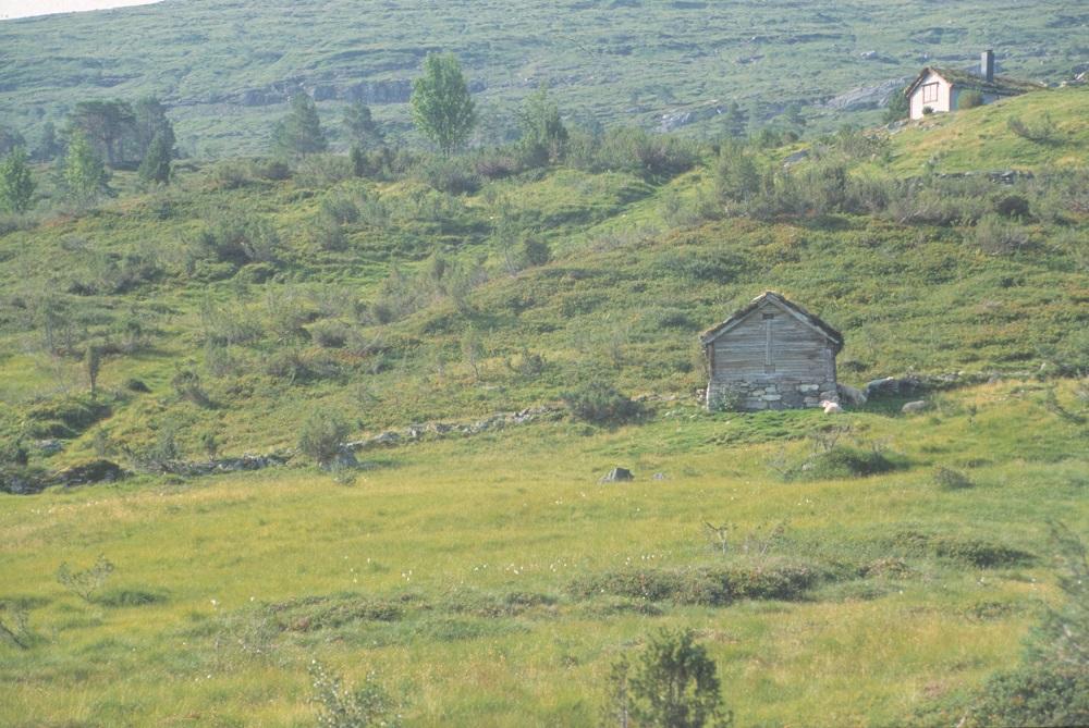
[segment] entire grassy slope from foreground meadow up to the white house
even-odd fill
[[[1037,151],[1002,120],[1043,99]],[[1089,526],[1087,107],[839,134],[790,170],[798,145],[621,134],[492,176],[510,150],[192,163],[88,210],[37,170],[49,199],[0,226],[0,477],[136,474],[0,493],[0,723],[313,725],[319,659],[375,670],[405,725],[584,726],[617,656],[688,626],[741,725],[956,725],[1066,599],[1047,522]],[[696,336],[767,288],[844,333],[844,382],[943,382],[930,408],[707,414]],[[155,467],[596,381],[644,416],[428,434],[337,480]],[[88,599],[58,579],[99,556]]]

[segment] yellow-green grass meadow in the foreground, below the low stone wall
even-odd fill
[[[844,415],[846,439],[905,462],[870,478],[776,476],[812,447],[783,433],[821,414],[678,407],[378,451],[350,486],[289,469],[9,497],[5,597],[36,643],[2,653],[0,721],[309,725],[317,658],[376,670],[411,725],[582,726],[611,659],[690,626],[741,725],[904,725],[1016,663],[1055,599],[1044,521],[1084,531],[1089,513],[1085,428],[1052,388],[1075,406],[1029,381]],[[616,464],[636,480],[598,484]],[[937,466],[974,486],[942,490]],[[726,553],[705,521],[730,527]],[[97,602],[53,580],[100,554],[115,571]],[[808,576],[721,602],[633,588],[701,569]]]

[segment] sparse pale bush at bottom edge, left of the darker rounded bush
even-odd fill
[[[401,705],[368,673],[362,686],[352,688],[344,680],[314,661],[310,664],[310,683],[317,705],[318,725],[321,728],[397,728],[401,725]]]

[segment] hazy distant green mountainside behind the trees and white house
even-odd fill
[[[714,109],[737,101],[760,123],[796,103],[829,128],[878,113],[829,99],[881,84],[888,94],[928,62],[970,65],[993,47],[1003,72],[1060,82],[1086,61],[1078,39],[1089,20],[1057,0],[799,8],[570,0],[523,2],[512,15],[485,0],[446,2],[441,13],[421,2],[207,0],[10,21],[0,25],[0,124],[34,141],[79,100],[157,94],[188,153],[261,153],[285,92],[303,87],[330,123],[358,92],[407,134],[405,83],[428,51],[451,50],[478,84],[481,136],[492,140],[541,83],[583,123],[658,126],[694,112],[693,128],[708,133]]]

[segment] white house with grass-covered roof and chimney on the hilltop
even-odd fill
[[[907,95],[911,119],[922,119],[927,113],[956,111],[965,94],[975,92],[983,103],[991,103],[1006,96],[1017,96],[1041,88],[1037,84],[994,75],[994,51],[983,51],[979,73],[927,66],[904,91]],[[930,111],[928,112],[927,109]]]

